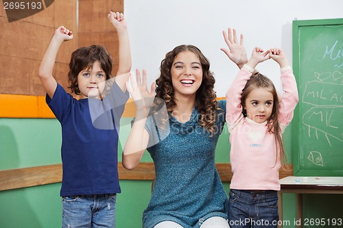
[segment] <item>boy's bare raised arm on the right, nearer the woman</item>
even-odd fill
[[[119,88],[125,92],[126,81],[129,79],[129,73],[132,65],[128,26],[122,13],[111,11],[108,14],[108,18],[115,29],[117,29],[119,40],[119,68],[115,81]]]

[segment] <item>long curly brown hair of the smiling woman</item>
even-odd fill
[[[202,84],[196,91],[196,110],[200,113],[200,126],[207,129],[211,136],[215,133],[215,119],[217,118],[216,110],[218,110],[215,91],[213,90],[215,78],[213,73],[209,71],[210,62],[202,54],[200,49],[193,45],[180,45],[169,51],[165,55],[165,59],[161,62],[161,75],[156,80],[156,97],[165,101],[168,112],[173,112],[173,107],[176,105],[174,97],[174,86],[171,81],[171,66],[176,56],[184,51],[191,51],[200,60],[202,66]]]

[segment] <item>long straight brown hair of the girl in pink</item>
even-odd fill
[[[255,73],[250,77],[247,81],[246,86],[242,90],[241,94],[241,105],[242,107],[246,107],[246,99],[250,92],[255,88],[266,88],[269,92],[272,93],[273,96],[273,108],[272,114],[267,120],[268,132],[270,134],[274,134],[275,144],[276,144],[276,162],[278,161],[278,150],[280,150],[280,160],[281,165],[283,168],[287,168],[287,157],[285,155],[285,149],[283,149],[283,140],[282,140],[282,132],[281,132],[281,125],[279,123],[279,96],[276,92],[275,86],[268,77],[261,75],[261,73]],[[243,109],[243,114],[246,116],[246,110]]]

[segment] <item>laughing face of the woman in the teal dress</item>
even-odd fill
[[[176,55],[171,65],[171,81],[176,99],[195,96],[202,83],[202,66],[195,53],[182,51]]]

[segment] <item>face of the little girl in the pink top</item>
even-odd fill
[[[274,105],[273,94],[269,88],[251,90],[244,102],[246,116],[256,123],[263,123],[272,114]]]

